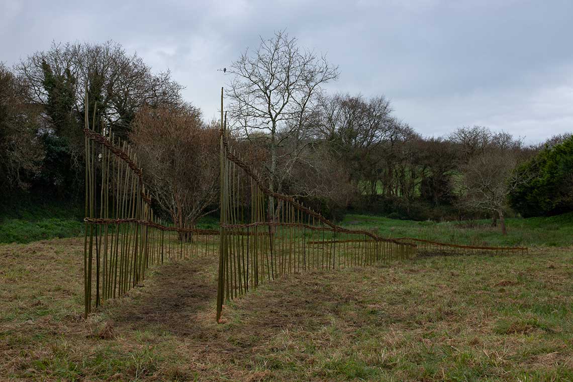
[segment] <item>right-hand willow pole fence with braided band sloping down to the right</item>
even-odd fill
[[[282,275],[374,265],[415,255],[413,243],[337,226],[291,196],[270,191],[231,148],[223,118],[223,89],[220,135],[217,321],[223,301]]]

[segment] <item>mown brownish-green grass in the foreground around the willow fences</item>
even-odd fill
[[[291,275],[216,324],[216,259],[156,267],[84,320],[82,239],[0,245],[0,380],[571,381],[572,255]]]

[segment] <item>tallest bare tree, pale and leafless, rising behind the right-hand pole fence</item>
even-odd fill
[[[280,192],[282,180],[308,144],[305,129],[321,86],[337,79],[338,68],[280,31],[268,40],[261,38],[257,49],[247,50],[226,72],[233,75],[227,91],[230,116],[248,139],[268,149],[268,185]],[[285,145],[289,140],[294,144]],[[270,198],[270,219],[272,206]]]

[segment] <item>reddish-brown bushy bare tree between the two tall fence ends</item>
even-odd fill
[[[216,125],[207,126],[190,105],[144,107],[135,117],[131,139],[144,180],[178,227],[194,226],[215,206],[218,191]]]

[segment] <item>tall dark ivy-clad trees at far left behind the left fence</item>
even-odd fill
[[[179,103],[182,88],[170,73],[152,73],[140,57],[129,56],[111,41],[53,44],[13,70],[2,66],[1,71],[2,80],[11,84],[0,90],[0,107],[6,109],[2,135],[9,136],[3,142],[11,147],[6,152],[12,159],[2,159],[2,166],[9,168],[2,173],[0,186],[20,183],[72,198],[83,190],[85,92],[93,116],[89,123],[125,137],[143,105]],[[15,118],[28,125],[10,127]],[[23,140],[32,142],[34,149]],[[20,152],[15,153],[16,147]],[[22,171],[28,171],[25,180]]]

